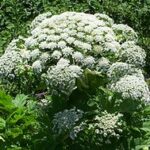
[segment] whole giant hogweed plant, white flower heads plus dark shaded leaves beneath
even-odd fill
[[[147,133],[145,57],[136,32],[105,14],[45,13],[1,56],[1,85],[52,96],[43,149],[132,149]]]

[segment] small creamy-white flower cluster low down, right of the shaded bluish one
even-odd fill
[[[123,122],[122,114],[110,114],[103,112],[102,116],[94,118],[95,123],[89,124],[89,130],[94,130],[95,134],[105,139],[120,138]]]

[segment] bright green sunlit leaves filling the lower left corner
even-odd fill
[[[15,99],[0,91],[0,149],[29,149],[38,129],[35,102],[23,94]]]

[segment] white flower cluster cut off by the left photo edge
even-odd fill
[[[22,63],[20,53],[17,51],[5,52],[0,58],[0,78],[14,76],[16,66]]]

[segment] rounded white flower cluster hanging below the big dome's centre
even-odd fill
[[[82,69],[77,65],[69,65],[69,61],[61,58],[56,66],[47,71],[47,84],[54,89],[53,94],[70,95],[76,88],[76,78],[82,75]]]

